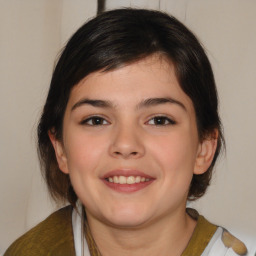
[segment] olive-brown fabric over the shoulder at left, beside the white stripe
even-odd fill
[[[17,239],[4,256],[75,255],[72,207],[64,207]]]

